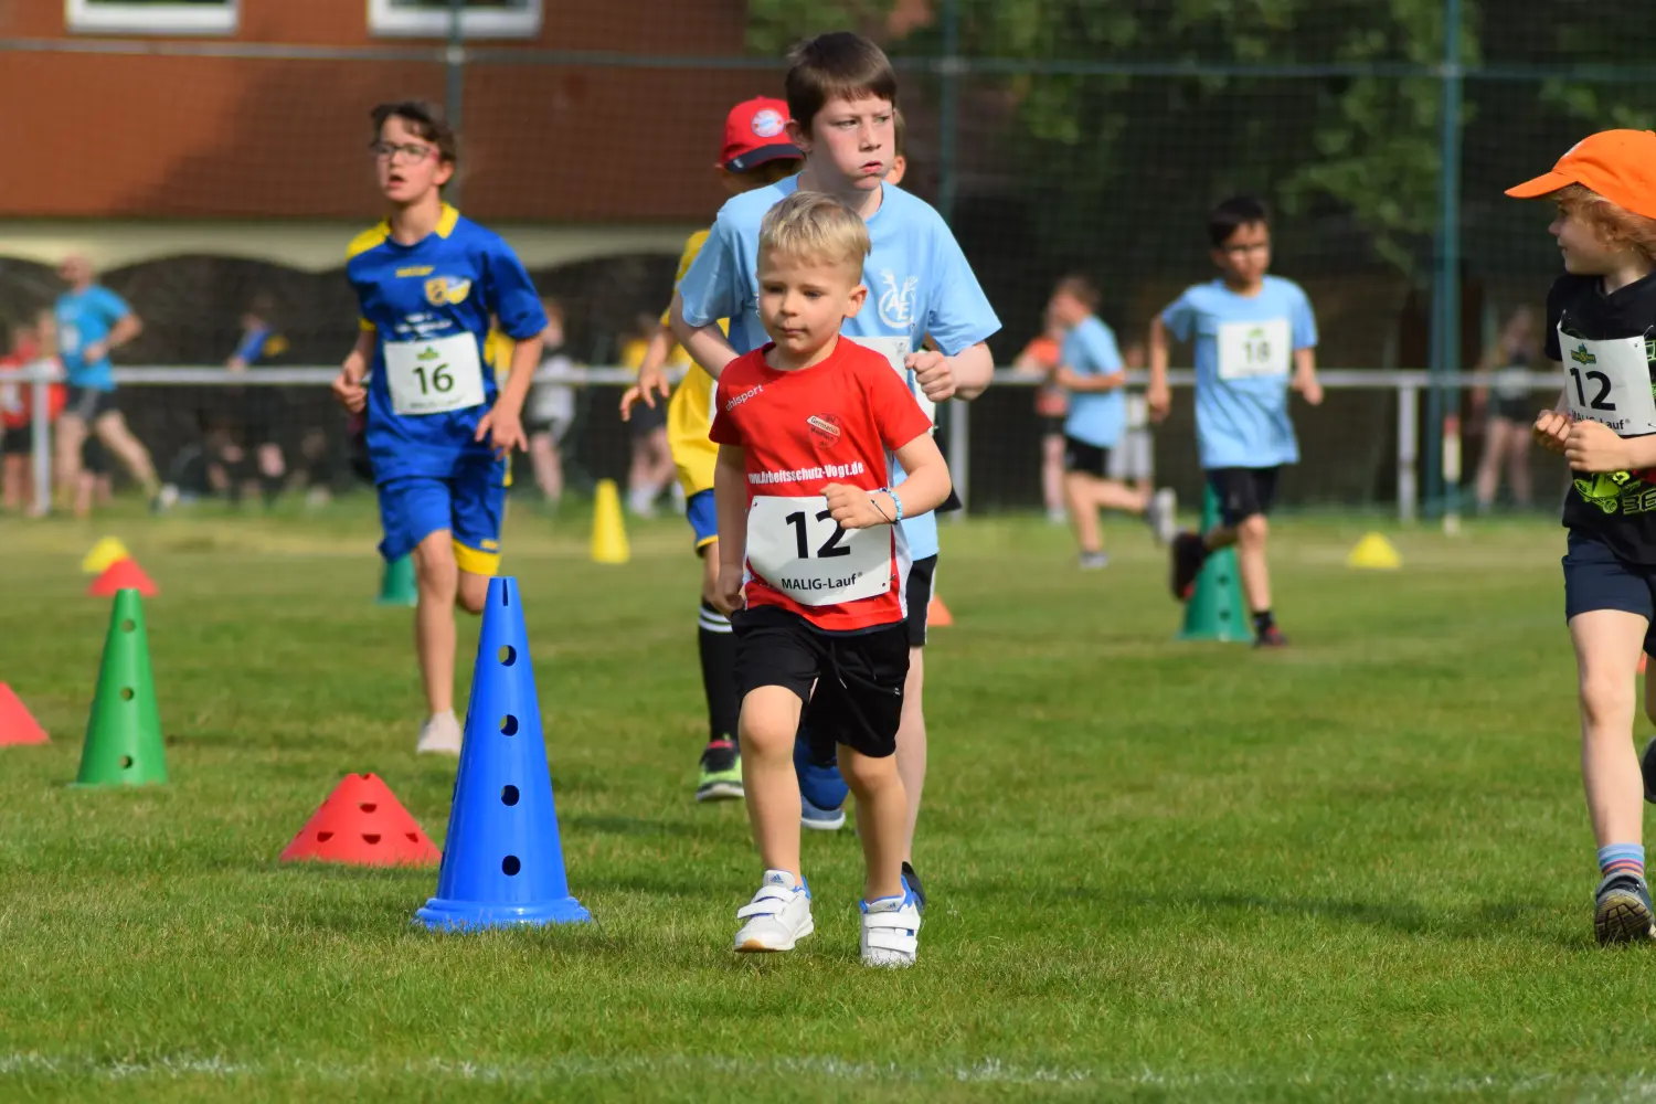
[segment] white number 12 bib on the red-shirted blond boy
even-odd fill
[[[757,495],[747,513],[753,574],[802,606],[833,606],[891,589],[891,526],[841,530],[821,495]]]

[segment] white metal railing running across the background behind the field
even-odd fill
[[[174,384],[174,386],[195,386],[195,387],[278,387],[278,386],[313,386],[326,387],[338,376],[338,367],[311,366],[311,367],[258,367],[245,372],[232,372],[224,367],[207,367],[207,366],[132,366],[118,367],[114,371],[114,379],[121,386],[142,387],[156,384]],[[35,415],[35,450],[33,450],[33,477],[35,477],[35,508],[45,510],[51,502],[51,422],[48,410],[48,386],[56,382],[60,376],[48,369],[22,369],[20,376],[12,376],[13,379],[26,381],[33,386],[33,415]],[[1421,427],[1419,427],[1419,396],[1432,384],[1432,376],[1424,371],[1394,371],[1394,369],[1323,369],[1318,371],[1317,377],[1321,381],[1326,391],[1396,391],[1398,392],[1398,518],[1403,521],[1413,521],[1419,510],[1419,450],[1421,450]],[[633,369],[626,367],[543,367],[537,376],[537,382],[561,382],[576,387],[586,386],[619,386],[629,384],[634,379]],[[1167,382],[1174,387],[1189,387],[1196,381],[1196,374],[1189,369],[1174,369],[1167,372]],[[1459,372],[1456,376],[1446,377],[1444,382],[1451,382],[1457,387],[1477,387],[1489,386],[1492,374],[1489,372]],[[1042,381],[1038,376],[1027,376],[1023,372],[1015,372],[1010,369],[1000,369],[995,372],[995,387],[1035,387]],[[1143,372],[1131,372],[1128,376],[1129,386],[1143,387],[1146,377]],[[1502,382],[1517,382],[1517,376],[1502,377]],[[1555,372],[1527,372],[1524,374],[1524,386],[1537,392],[1558,391],[1563,386],[1563,377]],[[962,502],[969,502],[970,488],[970,440],[972,440],[972,404],[956,402],[952,404],[951,422],[949,422],[949,470],[954,477],[956,490]],[[1459,482],[1459,444],[1451,442],[1446,450],[1446,477],[1451,482]],[[964,518],[965,510],[949,515],[951,518]]]

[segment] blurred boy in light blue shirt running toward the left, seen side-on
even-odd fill
[[[1063,497],[1083,571],[1110,563],[1098,531],[1100,510],[1141,515],[1159,540],[1171,540],[1177,508],[1171,488],[1153,493],[1110,478],[1111,452],[1128,427],[1121,391],[1126,371],[1116,334],[1093,313],[1096,310],[1098,290],[1086,276],[1060,280],[1047,305],[1047,314],[1066,329],[1052,382],[1070,392],[1070,414],[1063,422]]]

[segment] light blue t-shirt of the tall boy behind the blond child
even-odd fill
[[[846,319],[841,333],[853,339],[901,338],[909,353],[917,353],[929,334],[944,356],[985,341],[1000,329],[1000,319],[942,215],[899,187],[881,187],[879,210],[868,220],[873,243],[863,265],[868,303]],[[729,318],[737,353],[770,341],[758,321],[758,223],[797,189],[798,179],[788,177],[725,202],[696,263],[679,281],[684,321],[709,326]],[[906,379],[919,394],[914,374],[906,372]],[[893,478],[901,482],[901,468]],[[936,516],[907,516],[903,531],[916,559],[937,554]]]

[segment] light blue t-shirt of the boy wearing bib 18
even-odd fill
[[[1179,341],[1196,343],[1196,444],[1204,468],[1297,463],[1288,420],[1295,349],[1317,344],[1312,301],[1292,280],[1265,276],[1244,296],[1222,280],[1184,290],[1161,313]]]

